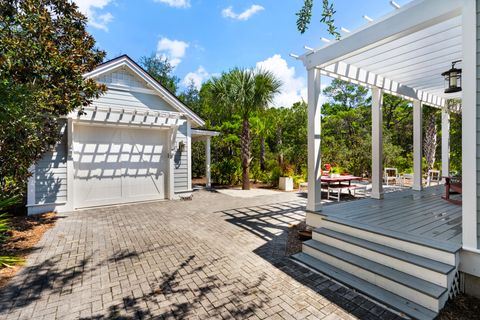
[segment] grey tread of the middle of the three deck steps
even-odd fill
[[[405,287],[421,292],[424,295],[430,296],[434,299],[440,299],[440,297],[447,291],[446,288],[443,288],[431,282],[411,276],[407,273],[395,270],[393,268],[384,266],[377,262],[359,257],[357,255],[348,253],[346,251],[320,243],[315,240],[309,240],[304,242],[303,244],[315,250],[318,250],[322,253],[328,254],[334,258],[345,261],[351,265],[354,265],[356,267],[375,273],[383,278],[399,283]]]

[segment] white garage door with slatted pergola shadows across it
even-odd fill
[[[165,199],[167,133],[75,126],[75,208]]]

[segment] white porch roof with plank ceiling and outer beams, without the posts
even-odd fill
[[[405,7],[317,49],[300,59],[322,74],[442,107],[441,76],[463,59],[462,5],[458,0],[414,0]],[[462,64],[457,64],[462,68]]]

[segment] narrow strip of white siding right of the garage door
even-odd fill
[[[178,146],[180,141],[185,143],[185,149],[183,152],[177,149],[173,157],[174,167],[174,191],[182,192],[188,191],[188,139],[187,139],[188,124],[185,122],[178,128],[176,145]]]

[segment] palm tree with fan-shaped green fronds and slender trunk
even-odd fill
[[[265,70],[235,68],[212,81],[212,98],[223,111],[242,117],[240,134],[242,160],[242,189],[250,189],[251,134],[249,118],[253,112],[264,110],[279,92],[282,83]]]

